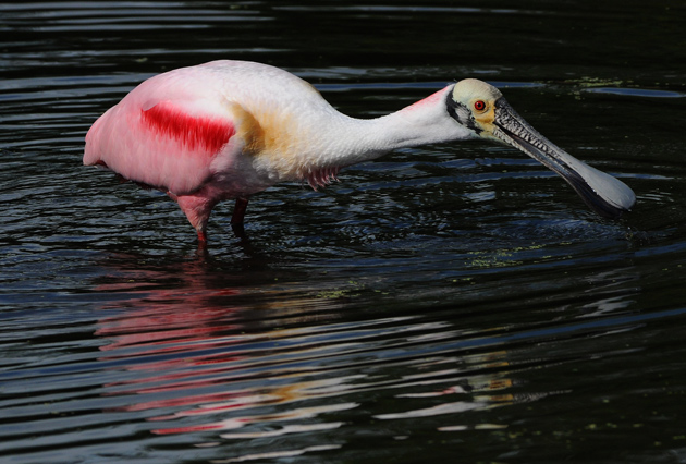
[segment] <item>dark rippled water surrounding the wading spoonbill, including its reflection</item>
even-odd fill
[[[0,3],[8,463],[686,462],[682,2]],[[506,147],[407,149],[231,205],[211,244],[81,166],[142,80],[285,68],[377,117],[466,76],[638,196]]]

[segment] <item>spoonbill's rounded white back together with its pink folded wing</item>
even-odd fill
[[[145,81],[100,117],[86,135],[84,164],[184,195],[218,169],[231,170],[246,146],[262,149],[265,114],[283,123],[283,114],[328,108],[314,87],[273,66],[215,61],[183,68]]]

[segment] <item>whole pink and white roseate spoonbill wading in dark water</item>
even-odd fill
[[[280,182],[317,190],[394,149],[479,138],[538,160],[602,217],[616,219],[636,203],[626,184],[552,144],[486,82],[465,78],[396,112],[357,119],[295,74],[249,61],[144,81],[93,123],[83,163],[166,193],[205,243],[219,202],[235,199],[231,224],[242,227],[248,199]]]

